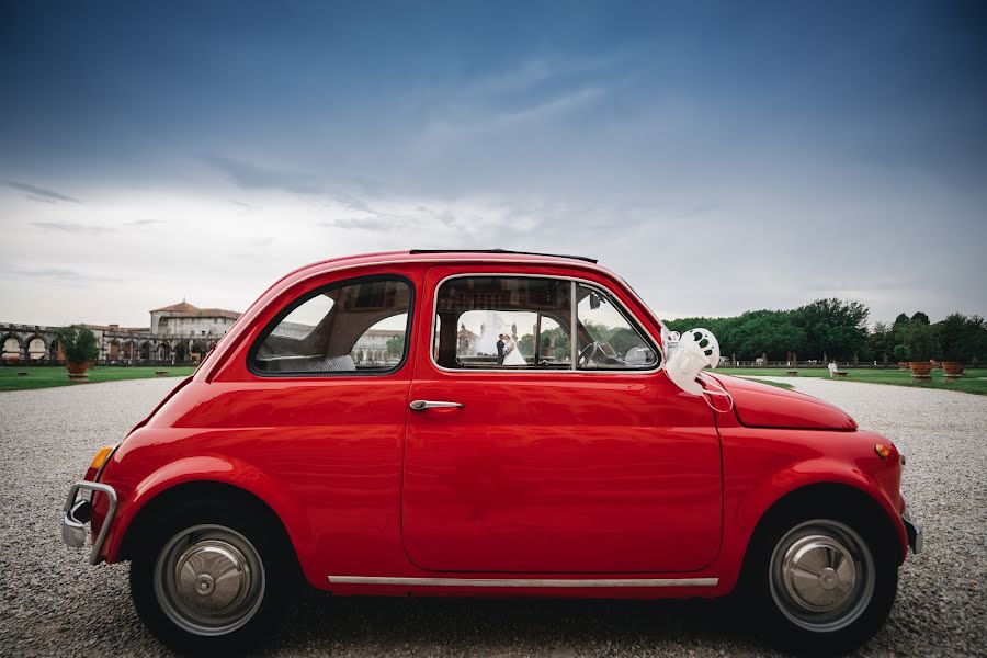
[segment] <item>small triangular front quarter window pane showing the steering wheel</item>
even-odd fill
[[[578,370],[651,370],[658,365],[657,350],[608,293],[578,284],[576,298]]]

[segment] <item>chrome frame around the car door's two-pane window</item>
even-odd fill
[[[456,279],[473,279],[473,277],[484,277],[484,279],[555,279],[557,281],[567,281],[569,282],[569,367],[568,368],[517,368],[517,367],[446,367],[444,365],[440,365],[438,360],[435,359],[434,350],[431,345],[438,344],[435,341],[438,340],[438,318],[439,318],[439,291],[442,290],[442,286],[453,280]],[[576,360],[578,358],[578,341],[576,337],[578,334],[578,302],[576,300],[576,286],[585,285],[587,287],[591,287],[606,296],[611,303],[614,304],[615,308],[619,309],[621,315],[627,320],[631,327],[637,331],[640,337],[645,340],[649,348],[651,348],[655,353],[658,355],[658,360],[655,363],[655,366],[648,370],[638,370],[638,368],[605,368],[605,370],[579,370],[576,364]],[[647,331],[642,325],[640,320],[637,319],[637,316],[627,308],[627,305],[624,304],[624,300],[620,298],[620,296],[615,295],[610,291],[609,287],[597,283],[595,281],[590,281],[587,279],[581,279],[579,276],[569,276],[569,275],[557,275],[557,274],[527,274],[527,273],[515,273],[515,272],[472,272],[472,273],[456,273],[450,274],[441,279],[438,283],[435,283],[434,290],[432,291],[432,318],[430,320],[431,328],[429,330],[429,362],[432,364],[432,367],[439,370],[442,373],[454,373],[454,374],[469,374],[469,373],[504,373],[504,374],[546,374],[546,373],[572,373],[579,375],[649,375],[655,374],[665,363],[665,353],[659,350],[656,345],[658,341],[651,336],[650,331]]]

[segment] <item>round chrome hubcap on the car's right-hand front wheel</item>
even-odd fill
[[[771,595],[792,622],[816,632],[852,624],[874,593],[874,561],[860,535],[843,523],[796,525],[771,556]]]

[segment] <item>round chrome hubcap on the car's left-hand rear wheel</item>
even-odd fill
[[[253,545],[222,525],[178,533],[158,555],[155,594],[178,626],[196,635],[236,631],[257,613],[264,568]]]

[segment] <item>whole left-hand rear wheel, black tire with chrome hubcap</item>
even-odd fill
[[[294,603],[297,561],[283,527],[252,506],[185,502],[145,520],[131,559],[137,614],[185,655],[236,655]]]

